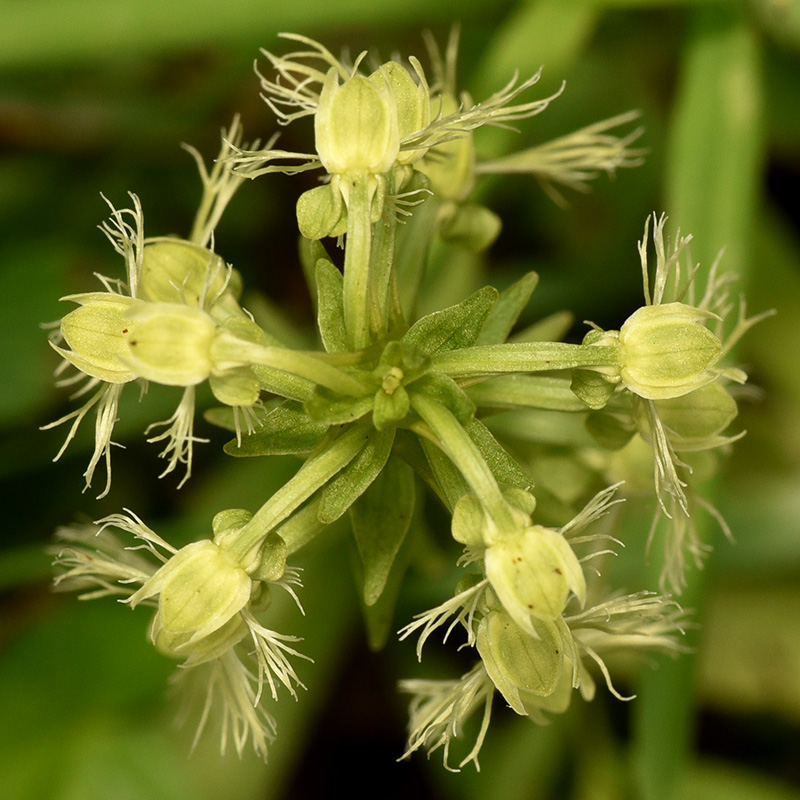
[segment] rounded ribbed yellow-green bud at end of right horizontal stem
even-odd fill
[[[620,328],[622,382],[639,397],[680,397],[719,376],[722,343],[702,323],[714,315],[685,305],[643,306]]]

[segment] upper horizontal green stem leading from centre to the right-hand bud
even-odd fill
[[[576,367],[617,368],[619,363],[619,347],[563,342],[489,344],[438,353],[433,357],[433,369],[451,378]]]

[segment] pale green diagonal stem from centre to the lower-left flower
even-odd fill
[[[353,426],[306,461],[297,474],[278,489],[239,531],[236,542],[230,547],[231,555],[243,559],[276,525],[344,469],[364,447],[370,430],[360,425]]]

